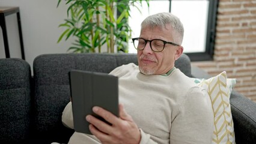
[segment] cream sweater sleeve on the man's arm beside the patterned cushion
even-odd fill
[[[180,112],[172,121],[170,143],[211,143],[213,110],[205,89],[194,87],[186,95]]]

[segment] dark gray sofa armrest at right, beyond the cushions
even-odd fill
[[[230,97],[236,143],[256,142],[256,103],[239,92]]]

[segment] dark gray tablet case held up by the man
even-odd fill
[[[118,112],[118,77],[106,73],[72,70],[69,73],[75,131],[91,134],[85,116],[94,115],[93,106],[100,106],[115,116]],[[106,122],[106,121],[105,121]]]

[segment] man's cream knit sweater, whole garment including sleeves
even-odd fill
[[[111,71],[119,77],[119,102],[141,129],[141,143],[211,143],[213,110],[207,92],[175,69],[169,76],[146,76],[135,64]],[[72,104],[62,122],[73,128]],[[69,143],[99,143],[74,133]]]

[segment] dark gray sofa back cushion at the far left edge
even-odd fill
[[[26,143],[31,114],[30,81],[28,62],[0,59],[0,143]]]

